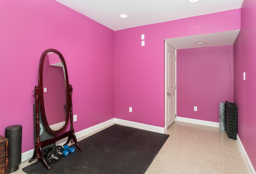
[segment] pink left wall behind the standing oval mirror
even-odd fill
[[[62,53],[74,91],[75,132],[113,118],[114,31],[54,0],[0,1],[0,135],[22,125],[22,152],[34,148],[31,91],[42,52]]]

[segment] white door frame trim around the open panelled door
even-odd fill
[[[166,73],[168,72],[167,70],[167,41],[164,40],[164,132],[166,133],[167,131],[167,113],[166,113],[166,100],[167,100],[167,89],[166,89]],[[170,42],[169,42],[170,44]],[[171,45],[171,44],[170,44]],[[175,57],[177,59],[177,49],[175,49]],[[177,86],[177,61],[175,61],[175,73],[174,73],[174,78],[175,78],[175,86]],[[175,115],[177,116],[177,88],[175,89]],[[175,117],[176,121],[176,117]]]

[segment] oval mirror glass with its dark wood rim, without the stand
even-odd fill
[[[63,56],[54,49],[44,51],[40,60],[40,111],[46,131],[61,132],[68,123],[68,79]]]

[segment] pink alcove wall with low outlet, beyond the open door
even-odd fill
[[[233,45],[179,49],[177,116],[219,122],[226,100],[233,102]]]

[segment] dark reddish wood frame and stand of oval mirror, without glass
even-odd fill
[[[63,65],[63,71],[64,71],[64,79],[65,79],[65,87],[66,87],[66,118],[64,121],[64,125],[62,126],[62,128],[58,129],[58,130],[52,130],[47,122],[46,119],[46,115],[45,115],[45,110],[44,110],[44,96],[43,96],[43,92],[44,92],[44,88],[43,88],[43,65],[44,65],[44,59],[47,55],[47,53],[49,52],[53,52],[56,53],[59,57],[60,60],[62,61],[62,65]],[[66,63],[64,60],[64,57],[62,56],[62,54],[57,51],[56,49],[47,49],[42,53],[41,59],[40,59],[40,64],[39,64],[39,79],[38,79],[38,83],[39,86],[35,86],[34,89],[34,97],[35,97],[35,120],[36,120],[36,142],[35,142],[35,149],[34,149],[34,154],[32,156],[32,158],[28,161],[28,162],[32,162],[35,158],[37,159],[41,159],[42,163],[44,164],[44,166],[50,170],[50,166],[49,164],[46,162],[46,159],[44,157],[44,153],[43,153],[43,147],[46,147],[52,143],[56,143],[56,141],[59,141],[61,139],[64,139],[66,137],[68,137],[67,142],[64,144],[68,144],[70,141],[71,143],[75,143],[76,146],[78,147],[78,149],[80,151],[82,151],[82,148],[78,145],[78,141],[76,139],[76,135],[74,134],[74,128],[73,128],[73,112],[72,112],[72,86],[71,84],[68,84],[68,72],[67,72],[67,68],[66,68]],[[40,107],[39,107],[40,104]],[[39,110],[40,108],[40,110]],[[67,127],[68,125],[68,120],[70,119],[70,131],[67,131],[65,133],[63,133],[62,135],[59,135],[57,137],[54,137],[52,139],[46,139],[44,141],[40,141],[40,120],[39,120],[39,112],[41,113],[41,117],[42,117],[42,122],[44,125],[44,128],[46,129],[46,131],[52,135],[58,134],[58,133],[62,133],[62,131],[64,131],[64,129]]]

